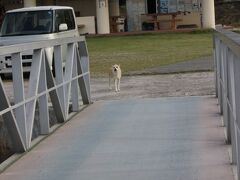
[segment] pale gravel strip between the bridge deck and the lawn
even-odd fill
[[[119,93],[108,89],[108,78],[92,78],[91,92],[93,101],[215,95],[214,72],[124,76]]]

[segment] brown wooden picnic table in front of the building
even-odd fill
[[[177,19],[177,15],[180,14],[179,12],[176,13],[154,13],[154,14],[142,14],[150,19],[145,20],[146,23],[153,23],[154,30],[160,30],[160,23],[169,22],[171,23],[171,29],[176,30],[176,22],[182,21],[182,19]],[[160,16],[170,16],[171,19],[159,19]]]

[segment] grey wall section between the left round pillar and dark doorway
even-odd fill
[[[145,0],[131,0],[126,2],[128,31],[141,31],[141,14],[146,13]]]

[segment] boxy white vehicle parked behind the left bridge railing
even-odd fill
[[[6,12],[1,27],[0,46],[76,36],[79,36],[79,33],[73,8],[66,6],[21,8]],[[53,48],[46,48],[46,54],[49,64],[52,65]],[[32,52],[23,52],[22,60],[25,67],[23,70],[28,72]],[[0,74],[9,72],[11,56],[1,56]]]

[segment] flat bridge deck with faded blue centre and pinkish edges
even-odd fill
[[[233,180],[212,97],[96,102],[1,180]]]

